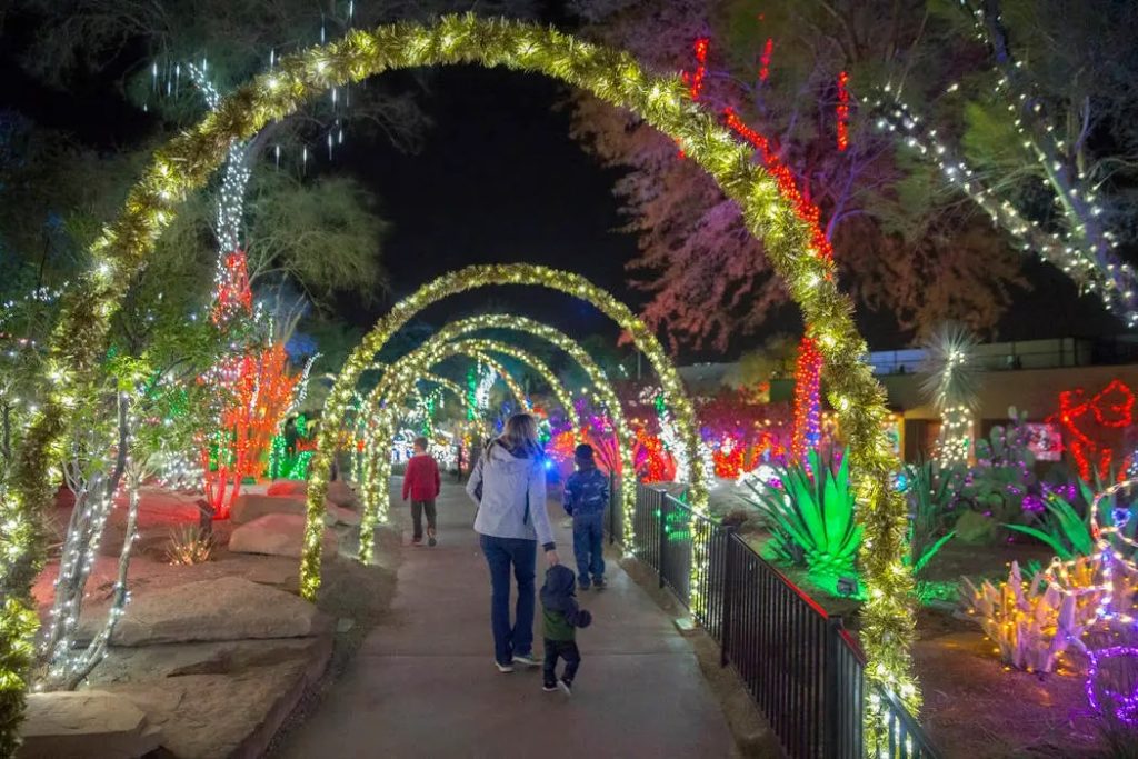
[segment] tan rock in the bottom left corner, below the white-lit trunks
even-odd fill
[[[18,759],[134,759],[160,744],[160,732],[130,700],[104,691],[32,693]]]

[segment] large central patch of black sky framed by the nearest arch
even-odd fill
[[[569,135],[567,96],[533,74],[448,67],[429,74],[424,106],[435,121],[423,149],[402,154],[354,143],[336,159],[373,187],[393,230],[384,246],[394,296],[476,263],[544,264],[583,274],[636,308],[624,264],[636,239],[621,223],[602,170]],[[442,320],[486,307],[513,308],[577,335],[612,332],[575,298],[535,288],[478,290],[432,310]],[[370,317],[378,315],[372,310]]]

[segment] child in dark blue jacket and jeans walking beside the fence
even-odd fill
[[[604,587],[604,506],[609,503],[609,478],[596,468],[593,446],[574,452],[577,471],[566,480],[566,512],[572,517],[572,552],[577,558],[580,589]]]

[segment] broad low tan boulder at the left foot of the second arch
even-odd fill
[[[303,599],[221,577],[139,595],[118,620],[112,644],[303,637],[325,627],[323,614]]]

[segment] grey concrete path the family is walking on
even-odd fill
[[[396,505],[410,542],[410,510]],[[552,505],[552,504],[551,504]],[[593,612],[580,630],[571,698],[542,691],[541,668],[494,668],[489,572],[471,529],[475,509],[444,485],[439,545],[405,545],[393,621],[364,641],[349,669],[280,756],[727,757],[726,720],[695,657],[668,617],[608,562],[609,587],[578,593]],[[563,512],[550,510],[561,560],[575,567]],[[544,575],[538,558],[537,584]],[[512,604],[511,604],[512,605]],[[538,612],[539,614],[539,612]],[[536,621],[535,653],[541,647]]]

